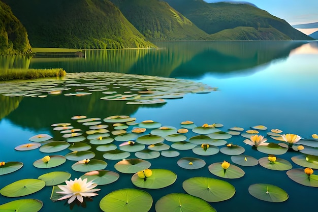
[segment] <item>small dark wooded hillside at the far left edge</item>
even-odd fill
[[[30,52],[26,29],[10,7],[0,1],[0,55]]]

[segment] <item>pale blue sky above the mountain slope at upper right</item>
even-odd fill
[[[204,0],[206,2],[220,2],[220,0]],[[286,20],[289,24],[318,22],[317,0],[242,0],[255,4],[262,10]],[[239,1],[233,1],[239,2]]]

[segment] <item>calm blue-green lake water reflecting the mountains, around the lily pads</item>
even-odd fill
[[[67,139],[62,137],[62,133],[53,130],[54,127],[51,126],[58,123],[70,123],[74,128],[82,129],[82,136],[86,137],[81,142],[92,146],[90,151],[96,155],[93,159],[106,161],[108,164],[105,169],[119,174],[118,180],[114,183],[97,187],[101,189],[97,192],[99,195],[92,197],[93,201],[87,201],[86,208],[75,205],[71,210],[68,204],[65,204],[65,200],[52,202],[50,200],[51,186],[23,197],[0,196],[0,204],[30,198],[43,201],[41,211],[102,211],[99,202],[108,193],[124,188],[140,189],[131,181],[133,174],[120,173],[114,168],[114,165],[120,161],[119,159],[105,159],[103,157],[105,151],[99,150],[98,145],[90,143],[91,141],[87,139],[88,134],[85,133],[90,125],[83,126],[76,119],[71,119],[77,115],[101,118],[102,124],[107,124],[103,120],[106,117],[128,115],[135,117],[136,123],[153,120],[160,123],[161,126],[176,129],[180,129],[180,123],[185,120],[194,122],[197,127],[204,124],[221,124],[222,127],[216,128],[221,132],[240,127],[244,129],[239,131],[241,135],[232,135],[230,138],[225,137],[221,140],[243,147],[245,149],[243,155],[256,159],[268,157],[269,154],[246,145],[243,141],[247,138],[243,135],[246,135],[247,130],[259,125],[266,127],[258,131],[261,135],[266,136],[268,142],[279,143],[267,134],[271,132],[271,129],[281,130],[280,134],[297,134],[303,140],[309,139],[310,142],[317,140],[313,139],[311,135],[318,134],[318,84],[316,82],[318,79],[318,42],[154,43],[158,46],[157,49],[83,50],[84,55],[77,57],[0,56],[0,69],[63,68],[68,74],[75,76],[91,72],[91,75],[85,75],[88,79],[82,77],[67,83],[64,83],[63,79],[46,79],[43,83],[41,80],[33,81],[39,81],[37,86],[38,88],[42,86],[41,89],[48,89],[50,86],[58,87],[62,90],[60,95],[41,92],[34,87],[30,88],[37,90],[34,95],[30,95],[32,92],[19,90],[32,84],[30,81],[17,82],[12,89],[10,88],[12,85],[9,84],[13,82],[0,83],[0,93],[11,93],[11,95],[0,96],[0,143],[2,145],[0,162],[19,161],[23,163],[23,167],[16,172],[0,175],[0,189],[16,180],[36,179],[51,171],[67,171],[72,174],[70,179],[78,178],[85,173],[74,171],[71,166],[76,161],[72,160],[67,160],[62,165],[49,169],[36,168],[33,163],[48,154],[40,152],[39,149],[15,150],[16,146],[29,143],[28,139],[38,134],[48,134],[55,141],[66,141]],[[119,81],[115,81],[116,77],[109,77],[111,84],[108,85],[105,83],[107,77],[103,80],[96,79],[98,77],[95,77],[94,74],[97,72],[98,75],[102,75],[100,72],[129,74],[129,80],[135,81],[139,80],[137,76],[145,75],[140,80],[143,83],[148,82],[150,87],[151,84],[154,87],[165,85],[166,78],[180,80],[179,84],[182,84],[183,81],[190,84],[172,85],[170,90],[165,90],[165,94],[171,95],[171,90],[178,89],[178,92],[184,95],[182,98],[167,98],[165,103],[160,104],[126,104],[127,101],[101,98],[105,96],[110,99],[115,98],[112,96],[114,93],[111,92],[128,95],[136,92],[137,89],[127,89],[126,87],[132,85],[129,85],[126,78],[121,78],[121,75],[118,75],[120,76]],[[133,76],[131,76],[132,74]],[[136,77],[134,77],[135,75]],[[151,78],[152,76],[160,78]],[[172,84],[172,82],[169,81],[167,84]],[[190,92],[191,89],[195,89],[192,87],[195,84],[198,84],[201,90]],[[8,87],[9,91],[4,92]],[[186,90],[186,92],[182,90]],[[90,94],[65,95],[81,92]],[[107,128],[109,131],[116,130],[112,123],[107,125],[109,125]],[[129,132],[134,127],[136,126],[129,125],[126,131]],[[147,129],[145,134],[149,134],[152,130]],[[190,138],[199,134],[192,132],[192,129],[189,128],[189,132],[185,135],[186,141],[189,141]],[[226,133],[226,135],[231,134]],[[115,138],[116,135],[110,133],[109,137]],[[150,211],[155,211],[154,205],[161,197],[171,193],[186,193],[182,188],[183,181],[198,176],[224,180],[234,186],[235,194],[232,198],[220,202],[210,202],[217,211],[302,211],[304,207],[313,208],[315,206],[317,188],[296,183],[289,178],[286,170],[271,170],[260,164],[241,166],[232,162],[231,155],[221,152],[211,156],[200,156],[195,154],[192,149],[178,150],[171,147],[174,142],[165,140],[164,143],[170,145],[170,150],[175,150],[180,155],[171,158],[161,155],[158,158],[147,159],[147,161],[151,163],[150,169],[171,170],[176,173],[177,179],[172,185],[165,188],[141,189],[148,192],[153,199]],[[120,141],[115,139],[111,144],[115,144],[119,148]],[[217,146],[217,148],[222,147],[226,147],[226,145]],[[316,146],[308,148],[311,149],[312,155],[316,154]],[[50,155],[66,156],[71,152],[72,150],[67,148]],[[287,153],[277,154],[276,157],[289,161],[293,169],[303,169],[304,167],[296,164],[291,158],[307,154],[289,149]],[[202,159],[206,165],[195,170],[181,168],[177,161],[183,157]],[[131,152],[126,159],[134,158],[137,158],[135,152]],[[236,165],[244,170],[244,176],[228,179],[216,176],[209,171],[209,165],[224,160],[230,162],[231,166]],[[314,174],[318,174],[318,172],[315,170]],[[252,184],[277,186],[288,193],[289,199],[279,203],[259,200],[248,192],[248,188]]]

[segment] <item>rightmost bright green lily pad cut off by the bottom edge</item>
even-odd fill
[[[155,203],[156,212],[216,212],[205,200],[189,194],[173,193],[163,196]]]

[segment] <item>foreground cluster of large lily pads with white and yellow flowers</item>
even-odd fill
[[[104,185],[114,183],[120,173],[132,174],[131,181],[135,188],[112,191],[100,201],[103,211],[149,211],[153,199],[142,189],[162,189],[175,183],[177,174],[168,169],[151,168],[150,159],[158,157],[176,158],[180,151],[192,150],[198,156],[212,156],[219,152],[231,156],[231,162],[218,161],[209,164],[211,174],[224,179],[237,179],[245,175],[243,167],[261,165],[264,168],[287,171],[287,175],[298,184],[318,187],[318,136],[304,139],[295,134],[282,134],[279,129],[268,130],[263,125],[252,126],[245,130],[232,127],[222,131],[222,124],[203,124],[185,120],[178,128],[162,126],[153,120],[136,122],[128,115],[113,115],[104,119],[87,118],[84,115],[71,117],[72,122],[81,124],[82,128],[73,127],[72,123],[52,124],[64,141],[56,141],[48,134],[39,134],[29,138],[29,143],[15,147],[18,151],[39,148],[48,155],[34,161],[37,168],[52,168],[74,161],[71,168],[83,173],[79,178],[69,180],[71,174],[65,171],[48,172],[38,179],[21,179],[3,187],[0,194],[7,197],[21,197],[40,191],[45,186],[52,186],[52,201],[68,199],[68,203],[83,204],[85,198],[98,195]],[[244,138],[242,144],[250,145],[267,157],[256,159],[244,155],[245,148],[229,143],[233,136]],[[268,137],[272,142],[268,141]],[[105,160],[94,159],[96,153],[90,151],[92,145],[103,153]],[[62,156],[55,155],[64,149],[71,152]],[[288,161],[279,158],[288,150],[299,152],[291,160],[303,167],[293,169]],[[108,160],[118,161],[114,165],[117,171],[105,170]],[[205,160],[195,157],[182,157],[173,160],[183,169],[203,168]],[[236,165],[234,165],[236,164]],[[22,162],[0,162],[0,175],[10,174],[23,167]],[[66,184],[66,185],[64,185]],[[96,188],[99,186],[100,188]],[[235,195],[235,187],[226,180],[212,177],[196,176],[183,181],[186,193],[172,193],[163,196],[155,203],[155,210],[174,211],[216,211],[208,202],[225,201]],[[255,198],[268,202],[283,202],[289,198],[283,189],[270,184],[252,184],[248,192]],[[43,202],[36,199],[21,199],[0,205],[0,210],[27,208],[38,211]],[[21,209],[22,208],[22,209]]]

